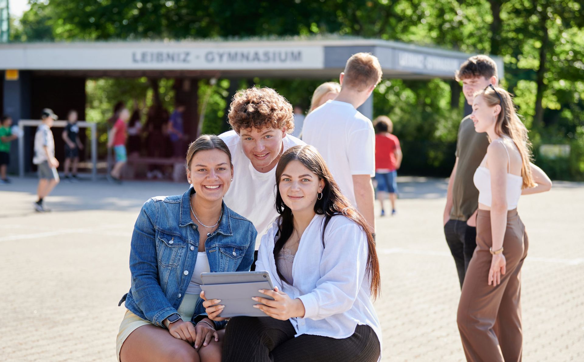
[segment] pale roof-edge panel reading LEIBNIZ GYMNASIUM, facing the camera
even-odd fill
[[[100,44],[101,45],[101,44]],[[324,47],[200,47],[156,48],[79,44],[77,47],[27,48],[22,54],[0,53],[20,69],[322,69]],[[12,55],[12,56],[11,56]],[[19,56],[20,55],[20,56]],[[4,61],[3,61],[4,62]],[[10,63],[9,63],[10,64]]]

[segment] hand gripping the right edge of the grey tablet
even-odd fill
[[[279,291],[278,287],[275,287],[274,290],[260,289],[259,293],[274,298],[274,300],[269,300],[262,297],[252,297],[254,301],[262,303],[254,305],[253,308],[258,308],[266,315],[280,319],[280,321],[286,321],[286,319],[294,317],[304,317],[305,309],[303,302],[298,298],[290,298],[288,294]]]

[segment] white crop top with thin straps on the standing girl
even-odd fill
[[[507,152],[507,159],[509,163],[507,164],[507,210],[513,210],[517,208],[517,203],[519,203],[519,197],[521,196],[521,190],[523,186],[523,177],[513,175],[509,173],[509,168],[511,165],[511,158],[509,157],[509,151],[503,142],[501,142],[503,147],[505,147],[505,152]],[[478,202],[491,207],[491,172],[485,166],[479,166],[472,177],[472,181],[478,189]]]

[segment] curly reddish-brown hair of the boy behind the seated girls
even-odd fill
[[[242,89],[235,93],[229,107],[229,124],[239,134],[240,130],[263,127],[294,131],[294,113],[286,98],[272,88]]]

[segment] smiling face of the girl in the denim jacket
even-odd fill
[[[233,168],[229,156],[220,149],[207,149],[194,154],[187,170],[197,197],[208,201],[223,199],[231,185]]]

